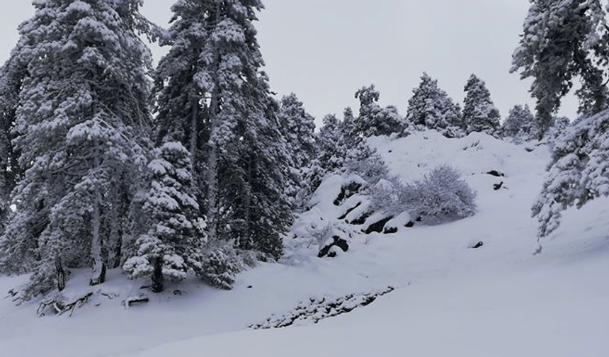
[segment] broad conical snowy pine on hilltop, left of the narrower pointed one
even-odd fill
[[[407,123],[419,130],[436,129],[445,137],[464,135],[460,107],[438,87],[438,81],[423,72],[419,87],[412,92],[406,111]]]

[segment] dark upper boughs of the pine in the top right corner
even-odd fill
[[[541,139],[560,101],[576,77],[582,88],[580,112],[599,113],[608,105],[605,72],[609,61],[609,29],[602,0],[531,0],[520,45],[513,53],[511,72],[533,77]]]

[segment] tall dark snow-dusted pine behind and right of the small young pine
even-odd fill
[[[291,217],[284,193],[290,155],[260,70],[254,21],[262,8],[259,0],[172,6],[171,50],[156,72],[157,136],[182,142],[195,164],[203,163],[195,179],[208,248],[225,248],[233,239],[239,249],[277,258]]]

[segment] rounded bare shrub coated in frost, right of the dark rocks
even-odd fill
[[[448,165],[437,166],[421,181],[409,185],[401,196],[411,207],[411,215],[431,225],[470,217],[476,212],[476,193]]]

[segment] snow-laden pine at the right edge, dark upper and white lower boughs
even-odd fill
[[[539,137],[552,125],[576,77],[581,79],[579,120],[557,137],[542,192],[533,205],[538,239],[559,227],[562,211],[609,196],[609,28],[601,0],[531,1],[512,72],[533,77]]]

